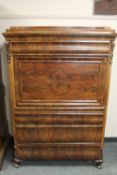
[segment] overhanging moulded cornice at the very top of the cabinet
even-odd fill
[[[3,35],[104,35],[116,36],[115,30],[110,27],[55,27],[55,26],[35,26],[35,27],[10,27]]]

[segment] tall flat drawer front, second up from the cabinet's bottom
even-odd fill
[[[16,125],[17,143],[100,142],[101,125]]]

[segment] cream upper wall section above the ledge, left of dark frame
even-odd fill
[[[0,0],[1,16],[89,16],[92,6],[93,0]]]

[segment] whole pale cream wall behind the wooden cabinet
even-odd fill
[[[7,118],[12,133],[5,39],[10,26],[108,26],[117,31],[117,17],[94,16],[93,0],[0,0],[0,48],[6,88]],[[106,137],[117,137],[117,43],[111,73]]]

